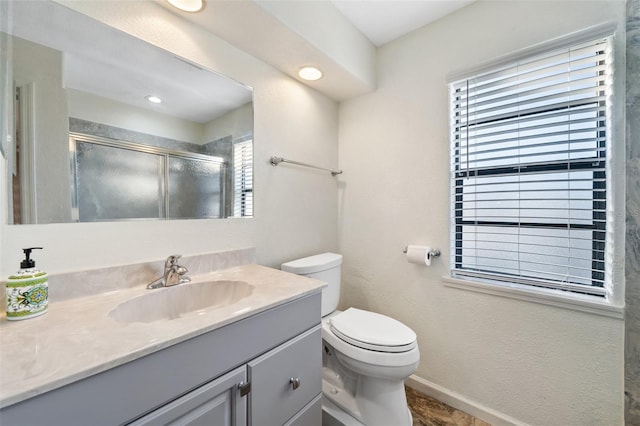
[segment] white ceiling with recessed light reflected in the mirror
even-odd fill
[[[247,87],[55,3],[16,2],[12,18],[14,35],[63,53],[66,89],[200,124],[251,102]]]

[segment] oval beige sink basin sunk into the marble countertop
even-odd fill
[[[206,281],[149,290],[120,303],[109,312],[118,322],[153,322],[206,312],[236,303],[251,295],[253,286],[244,281]]]

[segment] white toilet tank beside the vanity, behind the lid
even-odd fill
[[[340,265],[342,255],[322,253],[283,263],[281,269],[305,277],[324,281],[327,287],[322,290],[322,316],[329,315],[338,308],[340,300]]]

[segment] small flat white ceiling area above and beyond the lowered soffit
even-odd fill
[[[475,0],[333,0],[376,46],[382,46]]]

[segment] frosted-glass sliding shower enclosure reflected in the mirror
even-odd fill
[[[71,133],[72,219],[225,217],[222,157]]]

